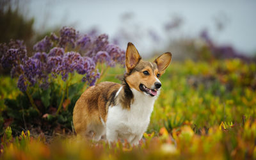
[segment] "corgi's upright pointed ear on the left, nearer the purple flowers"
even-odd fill
[[[136,47],[129,42],[125,54],[125,67],[126,72],[129,73],[141,60],[141,56],[137,51]]]

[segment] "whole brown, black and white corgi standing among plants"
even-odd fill
[[[99,83],[88,88],[77,100],[73,112],[76,133],[95,141],[127,140],[138,145],[147,131],[154,102],[160,93],[159,77],[171,60],[172,54],[166,52],[153,63],[143,61],[129,42],[122,84]]]

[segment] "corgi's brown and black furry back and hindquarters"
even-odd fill
[[[108,106],[113,105],[121,84],[102,82],[88,88],[77,100],[73,123],[77,134],[99,140],[105,134],[104,123]],[[103,123],[102,123],[103,121]]]

